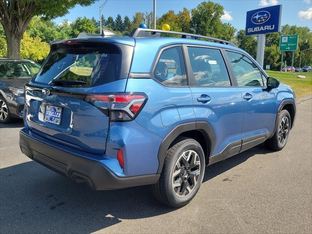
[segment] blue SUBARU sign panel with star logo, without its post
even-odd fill
[[[247,12],[246,35],[281,31],[282,5],[264,7]]]

